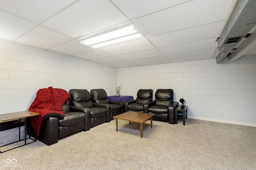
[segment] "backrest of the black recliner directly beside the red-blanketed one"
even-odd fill
[[[90,93],[86,89],[71,89],[68,92],[72,104],[78,107],[93,107]]]

